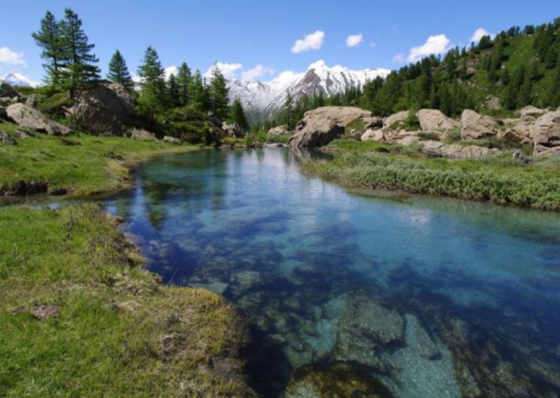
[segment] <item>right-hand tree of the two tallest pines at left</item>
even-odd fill
[[[63,84],[73,98],[76,90],[99,80],[99,68],[96,65],[99,59],[92,54],[95,45],[88,43],[78,14],[70,8],[66,8],[64,13],[64,20],[59,24],[65,63],[62,76]]]

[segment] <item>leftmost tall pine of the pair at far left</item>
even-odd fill
[[[35,43],[43,49],[41,58],[45,59],[43,68],[45,68],[47,73],[45,82],[55,89],[59,88],[64,50],[62,48],[59,24],[55,19],[55,15],[47,11],[45,17],[41,20],[41,29],[31,36],[35,39]]]

